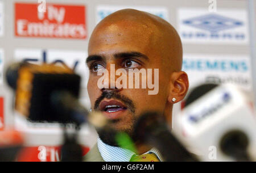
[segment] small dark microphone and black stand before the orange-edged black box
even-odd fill
[[[53,107],[60,110],[64,144],[61,147],[61,162],[81,162],[82,147],[78,143],[81,124],[86,123],[88,111],[68,91],[55,91],[51,95]],[[68,134],[68,123],[75,124],[75,132]]]

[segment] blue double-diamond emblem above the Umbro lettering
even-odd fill
[[[217,14],[208,14],[183,20],[183,23],[192,27],[207,30],[212,33],[243,26],[243,22],[239,20],[227,18]]]

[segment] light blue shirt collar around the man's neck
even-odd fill
[[[135,154],[131,150],[105,144],[103,141],[101,141],[100,138],[98,138],[97,145],[98,145],[98,150],[101,153],[101,157],[106,162],[129,162],[131,157]],[[161,162],[163,161],[162,155],[157,149],[152,148],[151,150],[147,151],[144,154],[147,154],[147,153],[154,153]]]

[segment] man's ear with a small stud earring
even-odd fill
[[[189,87],[188,75],[184,71],[174,71],[171,74],[168,102],[174,104],[180,102],[187,94]],[[172,100],[175,98],[175,102]]]

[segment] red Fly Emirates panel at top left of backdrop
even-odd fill
[[[85,39],[85,6],[46,4],[46,12],[37,3],[15,3],[15,36]]]

